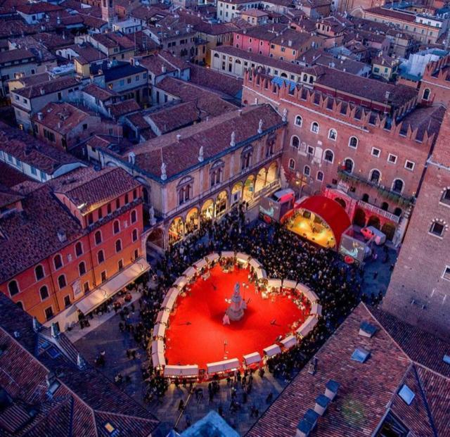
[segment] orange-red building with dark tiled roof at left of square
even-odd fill
[[[141,258],[141,185],[123,170],[83,168],[2,200],[0,291],[39,322],[66,329],[73,303]]]

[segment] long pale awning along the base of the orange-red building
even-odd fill
[[[130,282],[134,281],[137,277],[141,276],[144,272],[150,269],[150,265],[143,258],[139,258],[133,262],[133,264],[125,267],[120,273],[117,273],[111,279],[103,282],[94,291],[91,291],[86,297],[75,303],[75,306],[83,313],[89,314],[89,312],[95,310],[99,305],[114,296],[117,291],[122,290]]]

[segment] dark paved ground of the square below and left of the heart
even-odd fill
[[[134,315],[131,315],[131,322],[136,323],[138,321],[138,312],[136,311]],[[240,410],[233,413],[229,411],[231,389],[227,387],[226,380],[220,381],[220,392],[214,396],[212,403],[209,400],[207,383],[203,383],[195,385],[195,388],[203,388],[203,400],[197,400],[195,395],[189,396],[189,386],[185,388],[180,385],[179,388],[176,388],[174,384],[171,384],[160,403],[155,400],[146,405],[143,403],[143,380],[141,376],[141,367],[148,364],[146,362],[146,353],[142,349],[136,349],[136,343],[130,334],[120,331],[119,322],[120,317],[118,315],[110,317],[96,329],[80,338],[75,343],[75,346],[91,365],[94,365],[94,360],[101,350],[105,350],[105,367],[101,368],[101,371],[110,380],[114,380],[114,376],[119,372],[124,378],[129,376],[130,381],[122,383],[122,390],[160,419],[162,422],[160,436],[166,436],[177,422],[179,431],[186,429],[186,415],[191,420],[191,423],[194,423],[210,410],[217,411],[219,405],[222,407],[226,421],[243,435],[256,421],[255,417],[250,417],[250,407],[254,405],[259,410],[259,415],[261,415],[269,406],[266,403],[267,395],[273,393],[273,399],[275,399],[278,393],[281,393],[287,385],[287,381],[275,379],[269,372],[265,373],[264,378],[260,378],[258,374],[255,374],[252,392],[248,395],[248,400],[245,404],[243,404],[242,389],[238,386],[236,400],[241,404],[241,407]],[[139,351],[141,357],[130,360],[126,355],[127,349]],[[186,404],[182,414],[178,410],[181,399]]]

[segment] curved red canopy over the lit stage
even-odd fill
[[[325,196],[311,196],[297,205],[297,208],[319,215],[333,231],[336,249],[339,248],[342,234],[352,223],[345,209],[338,202]]]

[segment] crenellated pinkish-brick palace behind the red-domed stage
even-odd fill
[[[285,114],[282,163],[300,196],[328,190],[344,201],[354,223],[378,227],[390,239],[399,229],[395,242],[400,241],[406,222],[399,225],[409,215],[442,106],[414,108],[396,124],[387,115],[306,87],[279,87],[251,72],[244,79],[243,101],[270,103]]]

